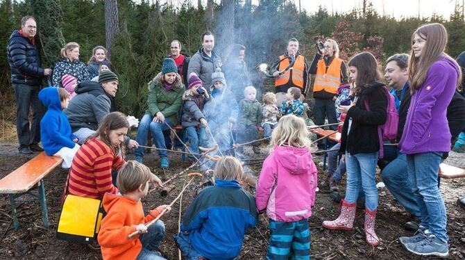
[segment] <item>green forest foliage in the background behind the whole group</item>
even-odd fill
[[[177,7],[166,2],[118,0],[121,32],[112,46],[113,70],[119,75],[117,106],[120,111],[136,117],[142,116],[146,109],[147,83],[160,72],[162,59],[169,54],[171,40],[180,40],[182,52],[192,56],[201,46],[201,35],[207,28],[205,6],[196,8],[192,0],[184,0]],[[448,29],[448,54],[455,57],[464,51],[465,22],[461,6],[457,6],[448,20],[439,15],[394,19],[380,15],[368,2],[364,14],[355,8],[348,13],[331,14],[322,7],[316,13],[305,10],[298,13],[294,1],[236,0],[235,42],[247,48],[246,63],[253,79],[260,78],[253,67],[262,62],[271,63],[285,51],[289,38],[298,38],[300,52],[309,61],[315,54],[317,39],[335,38],[342,58],[369,50],[382,62],[392,54],[408,53],[412,33],[418,26],[440,22]],[[14,17],[10,11],[12,3]],[[219,26],[220,8],[214,5],[212,31],[217,39],[223,33]],[[31,14],[37,18],[44,54],[47,54],[44,55],[44,66],[58,61],[65,42],[81,45],[80,58],[85,63],[94,46],[105,46],[104,0],[3,0],[0,1],[0,42],[3,47],[8,44],[10,33],[19,29],[21,17]],[[0,56],[0,71],[0,94],[11,92],[5,55]]]

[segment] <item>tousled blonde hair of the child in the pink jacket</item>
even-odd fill
[[[278,127],[271,134],[271,145],[291,147],[308,147],[310,150],[310,139],[305,121],[296,115],[285,115],[278,122]]]

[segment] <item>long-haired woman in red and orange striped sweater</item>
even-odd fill
[[[81,145],[69,171],[68,193],[100,199],[105,193],[118,193],[112,184],[112,170],[119,170],[126,161],[119,155],[129,124],[126,115],[113,112],[106,115],[99,129]],[[152,174],[152,182],[162,182]]]

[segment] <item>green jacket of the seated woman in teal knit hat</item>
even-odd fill
[[[173,86],[170,90],[164,88],[162,83],[162,74],[159,73],[149,82],[149,97],[147,97],[146,115],[155,116],[161,112],[164,117],[168,118],[172,124],[178,124],[178,112],[183,103],[183,93],[185,91],[181,77],[176,76]]]

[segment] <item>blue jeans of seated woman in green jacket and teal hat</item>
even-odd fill
[[[169,119],[166,118],[164,121],[167,122],[170,127],[173,127],[173,124],[171,121],[169,121]],[[139,127],[137,127],[137,137],[135,138],[137,143],[139,143],[139,145],[146,145],[147,136],[149,136],[149,129],[152,133],[155,147],[160,149],[167,149],[167,145],[164,143],[163,131],[169,129],[169,127],[167,127],[167,125],[164,123],[153,122],[152,115],[144,115],[142,120],[140,120]],[[135,149],[134,154],[135,156],[144,157],[144,148],[139,147]],[[167,154],[167,151],[158,150],[158,156],[160,156],[160,158],[167,157]]]

